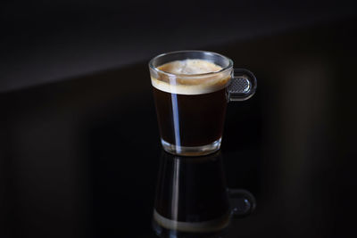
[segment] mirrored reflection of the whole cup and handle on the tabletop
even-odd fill
[[[231,200],[220,152],[195,158],[162,152],[154,202],[157,234],[221,232],[232,213],[248,215],[254,207],[253,196],[245,191]],[[232,208],[232,203],[240,207]]]

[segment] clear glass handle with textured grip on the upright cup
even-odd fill
[[[245,101],[253,96],[257,86],[253,73],[245,69],[235,69],[228,86],[228,102]]]

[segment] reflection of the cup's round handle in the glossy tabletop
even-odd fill
[[[252,193],[244,189],[228,189],[230,213],[234,218],[250,215],[255,209],[255,198]]]

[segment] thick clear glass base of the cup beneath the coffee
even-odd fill
[[[162,140],[162,147],[165,152],[169,152],[179,156],[202,156],[220,150],[220,142],[222,138],[212,142],[212,144],[205,144],[201,146],[180,146],[170,144]]]

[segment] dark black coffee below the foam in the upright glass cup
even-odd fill
[[[226,89],[208,94],[171,94],[154,87],[162,139],[180,146],[220,140],[227,107]]]

